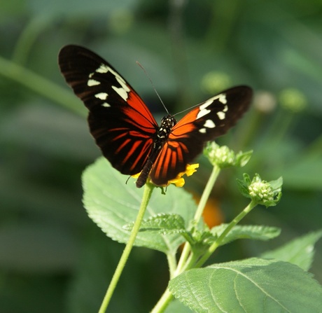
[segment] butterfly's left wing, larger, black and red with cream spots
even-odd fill
[[[59,51],[59,67],[90,114],[90,132],[123,174],[137,174],[153,148],[158,124],[137,92],[102,57],[80,46]]]

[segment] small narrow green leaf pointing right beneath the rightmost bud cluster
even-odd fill
[[[225,230],[228,224],[221,224],[211,229],[211,234],[219,237]],[[276,227],[269,227],[263,225],[236,225],[228,235],[223,239],[223,244],[228,244],[237,239],[255,239],[255,240],[269,240],[273,239],[281,233],[281,230]]]

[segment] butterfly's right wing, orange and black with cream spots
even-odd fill
[[[153,164],[153,183],[164,186],[185,172],[186,165],[202,152],[206,141],[220,137],[237,123],[248,109],[252,95],[247,86],[225,90],[179,120]]]

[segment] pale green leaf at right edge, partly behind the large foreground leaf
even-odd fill
[[[311,232],[284,244],[278,249],[262,253],[261,258],[275,258],[309,270],[314,258],[314,244],[322,237],[322,230]]]

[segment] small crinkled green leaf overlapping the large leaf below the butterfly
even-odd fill
[[[129,223],[123,228],[131,231],[134,223]],[[159,232],[160,234],[179,234],[186,232],[185,221],[179,214],[158,214],[142,221],[140,232]]]

